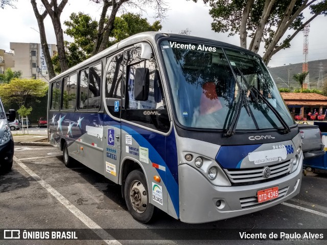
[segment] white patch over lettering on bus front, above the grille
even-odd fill
[[[254,164],[282,162],[287,157],[287,150],[284,145],[273,145],[272,150],[263,150],[250,152],[248,157],[250,162]]]

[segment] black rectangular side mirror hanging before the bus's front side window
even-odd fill
[[[146,101],[149,97],[150,73],[148,68],[136,68],[134,81],[134,99]]]

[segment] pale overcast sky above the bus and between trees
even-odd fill
[[[239,46],[239,36],[227,37],[227,33],[215,33],[211,30],[212,18],[209,7],[200,0],[198,3],[186,0],[166,0],[169,6],[167,17],[161,20],[162,32],[178,33],[188,28],[191,35],[212,38]],[[83,12],[99,20],[101,8],[89,0],[69,0],[61,15],[61,21],[67,20],[72,12]],[[133,12],[133,11],[131,11]],[[122,12],[120,13],[122,14]],[[10,42],[40,42],[38,26],[31,2],[18,0],[17,9],[0,9],[2,25],[0,29],[0,49],[10,51]],[[153,23],[153,13],[143,13]],[[308,17],[309,15],[307,15]],[[48,43],[56,43],[51,19],[45,19]],[[62,26],[65,29],[65,26]],[[65,40],[71,40],[65,36]],[[263,45],[262,45],[263,46]],[[268,66],[282,66],[303,62],[303,34],[300,32],[291,42],[291,48],[279,51]],[[260,52],[263,55],[262,52]],[[318,16],[311,22],[309,33],[309,60],[327,59],[327,17]],[[327,68],[324,68],[327,69]]]

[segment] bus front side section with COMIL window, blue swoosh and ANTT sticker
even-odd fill
[[[168,193],[166,140],[170,130],[167,106],[154,57],[141,58],[141,49],[125,51],[122,107],[122,161],[137,162],[148,184],[149,202],[177,216]],[[155,176],[160,181],[155,181]]]

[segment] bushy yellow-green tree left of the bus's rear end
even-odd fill
[[[43,97],[48,91],[48,84],[40,79],[13,78],[9,83],[0,84],[0,97],[4,103],[25,105],[28,98]]]

